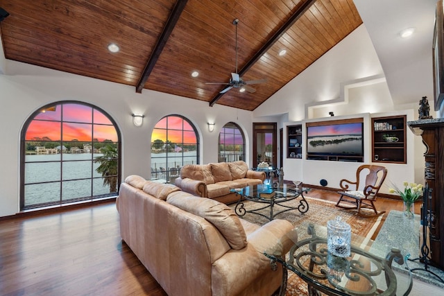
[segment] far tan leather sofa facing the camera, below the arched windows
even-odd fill
[[[239,200],[230,189],[262,184],[265,178],[264,172],[248,169],[243,161],[188,164],[180,170],[175,184],[182,191],[229,204]]]

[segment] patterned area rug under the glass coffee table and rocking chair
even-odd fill
[[[348,211],[335,207],[336,202],[319,200],[317,198],[309,198],[307,196],[305,196],[305,199],[309,204],[309,209],[305,214],[300,214],[298,210],[292,210],[275,216],[275,219],[288,220],[295,227],[300,225],[302,221],[310,221],[318,225],[327,226],[328,220],[332,220],[335,219],[337,216],[341,216],[343,221],[352,226],[352,233],[358,234],[359,236],[371,238],[376,231],[377,226],[379,225],[379,223],[381,223],[382,216],[384,216],[381,215],[373,218],[361,218],[355,215],[355,211]],[[291,207],[297,207],[300,204],[300,198],[297,198],[296,200],[291,200],[287,204]],[[247,210],[257,209],[263,206],[264,204],[259,204],[257,202],[244,202],[244,207]],[[231,204],[230,207],[234,210],[236,204]],[[276,213],[281,209],[281,207],[275,206],[274,211]],[[259,212],[265,214],[266,216],[270,215],[270,209],[262,209]],[[258,225],[264,225],[268,222],[268,219],[251,213],[247,213],[241,218]],[[289,271],[287,292],[285,295],[308,295],[307,284],[305,283],[305,281],[302,281],[302,279],[300,279],[291,271]]]

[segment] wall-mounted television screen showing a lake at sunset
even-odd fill
[[[307,126],[307,154],[364,156],[364,123]]]

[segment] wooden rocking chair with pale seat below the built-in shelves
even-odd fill
[[[364,174],[367,173],[365,180]],[[373,217],[382,215],[385,211],[378,212],[373,202],[376,200],[377,193],[382,186],[382,183],[386,179],[387,169],[384,166],[375,166],[370,164],[364,164],[359,166],[356,171],[356,181],[351,182],[349,180],[341,180],[339,186],[341,186],[341,194],[336,203],[336,207],[343,209],[357,209],[358,216]],[[360,182],[361,181],[361,182]],[[365,181],[365,182],[364,182]],[[355,186],[352,186],[355,185]],[[354,187],[354,188],[350,188]],[[343,207],[340,202],[349,202],[355,204],[354,207]],[[373,209],[375,214],[362,214],[361,209]]]

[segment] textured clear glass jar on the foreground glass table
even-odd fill
[[[345,223],[341,216],[327,222],[327,249],[334,256],[350,256],[350,240],[352,228]]]

